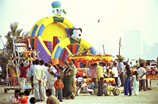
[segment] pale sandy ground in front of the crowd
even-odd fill
[[[4,86],[0,86],[0,104],[8,104],[13,90],[4,93]],[[120,88],[122,91],[123,88]],[[32,95],[33,96],[33,95]],[[44,101],[37,104],[46,104]],[[152,90],[141,91],[139,96],[95,96],[82,94],[74,100],[63,100],[61,104],[158,104],[158,80],[152,80]]]

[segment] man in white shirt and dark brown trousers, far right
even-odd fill
[[[139,80],[139,90],[141,91],[142,87],[143,87],[143,90],[145,91],[146,90],[146,86],[145,86],[145,82],[146,82],[146,70],[144,68],[144,63],[140,64],[140,68],[138,69],[138,76],[140,77],[140,80]]]

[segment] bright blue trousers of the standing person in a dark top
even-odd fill
[[[130,77],[125,79],[125,83],[124,83],[124,95],[132,95],[132,89],[131,89],[131,81],[130,81]]]

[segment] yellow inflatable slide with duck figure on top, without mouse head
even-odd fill
[[[53,16],[37,21],[31,30],[31,46],[40,52],[39,57],[42,60],[52,60],[53,64],[63,63],[68,55],[76,54],[83,49],[91,49],[91,53],[96,54],[86,40],[71,41],[68,29],[75,28],[75,25],[63,16],[65,11],[61,9],[59,1],[52,3],[52,12]]]

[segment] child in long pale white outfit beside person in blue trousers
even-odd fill
[[[138,72],[134,71],[134,75],[133,75],[133,91],[134,94],[137,96],[139,95],[139,77],[138,77]]]

